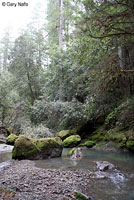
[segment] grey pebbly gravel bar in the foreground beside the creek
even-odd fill
[[[0,199],[76,200],[76,191],[88,196],[90,183],[89,170],[40,169],[33,161],[16,160],[0,171]]]

